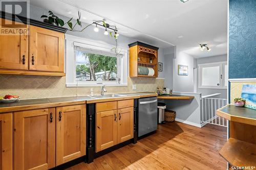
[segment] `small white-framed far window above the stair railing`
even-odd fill
[[[226,89],[228,69],[226,62],[199,64],[199,88]]]

